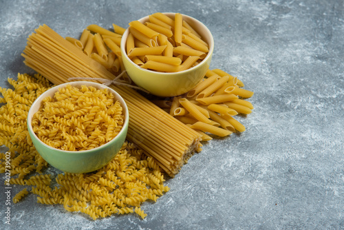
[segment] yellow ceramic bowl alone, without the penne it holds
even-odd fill
[[[174,17],[175,15],[175,13],[164,14],[170,17]],[[183,20],[189,23],[189,25],[191,25],[209,45],[209,52],[204,60],[195,67],[191,67],[189,70],[181,72],[155,72],[139,67],[129,59],[125,51],[129,30],[126,30],[122,36],[120,50],[125,70],[127,70],[127,73],[136,85],[148,90],[151,94],[156,96],[178,96],[189,92],[204,77],[211,63],[211,57],[214,50],[213,35],[208,28],[197,19],[184,14],[182,14],[182,17]],[[142,23],[149,21],[149,16],[139,19],[138,21]]]

